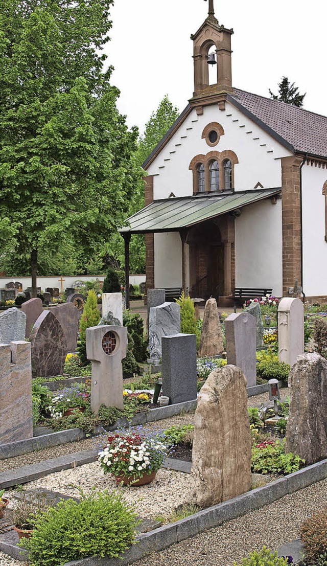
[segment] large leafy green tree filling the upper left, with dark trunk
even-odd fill
[[[0,237],[38,258],[60,242],[96,254],[128,215],[142,171],[102,49],[113,0],[3,0]]]

